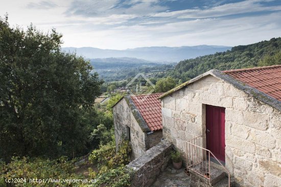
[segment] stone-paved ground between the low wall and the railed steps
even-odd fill
[[[190,187],[190,176],[185,174],[184,168],[175,170],[172,165],[168,165],[151,187]]]

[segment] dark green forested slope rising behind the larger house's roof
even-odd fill
[[[187,81],[210,69],[239,69],[259,66],[259,62],[281,51],[281,38],[272,38],[250,45],[239,45],[225,52],[180,61],[167,74]]]

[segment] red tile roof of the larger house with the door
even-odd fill
[[[281,65],[223,72],[281,101]]]

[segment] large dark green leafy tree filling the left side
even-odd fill
[[[61,35],[0,18],[0,158],[75,156],[84,149],[84,116],[102,82],[82,57],[60,51]]]

